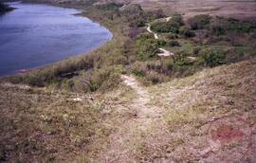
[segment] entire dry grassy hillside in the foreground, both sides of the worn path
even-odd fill
[[[248,143],[255,139],[250,133],[255,130],[255,65],[255,60],[223,65],[145,88],[151,99],[146,106],[158,110],[147,122],[135,110],[137,94],[124,85],[91,95],[2,83],[1,161],[94,162],[105,156],[119,161],[129,155],[126,159],[142,162],[218,162],[222,157],[253,162],[255,146]],[[131,124],[135,128],[127,129]],[[243,141],[236,133],[211,135],[224,124],[229,132],[243,132]],[[118,131],[134,130],[119,136]],[[104,151],[116,135],[128,151],[118,148],[125,154],[113,157]]]

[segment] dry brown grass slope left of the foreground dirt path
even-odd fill
[[[4,162],[85,159],[98,153],[111,132],[112,113],[92,96],[9,84],[0,85],[0,96]]]

